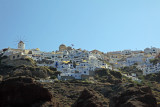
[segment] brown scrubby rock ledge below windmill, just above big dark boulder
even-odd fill
[[[52,71],[48,67],[26,66],[21,65],[18,67],[0,65],[0,75],[4,78],[16,76],[28,76],[32,78],[48,78],[49,76],[58,75],[58,71]]]

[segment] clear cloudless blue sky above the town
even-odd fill
[[[0,0],[0,49],[160,48],[160,0]]]

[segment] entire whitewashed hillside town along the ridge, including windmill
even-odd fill
[[[25,43],[20,41],[18,48],[5,48],[0,51],[10,60],[20,58],[32,58],[37,66],[49,66],[57,68],[61,74],[58,79],[85,79],[94,75],[94,71],[100,68],[114,69],[136,65],[143,71],[143,75],[160,71],[160,63],[153,64],[151,60],[158,57],[159,48],[151,47],[144,50],[123,50],[103,53],[98,50],[87,51],[74,49],[72,46],[61,44],[59,50],[43,52],[39,48],[25,49]],[[136,77],[136,74],[132,74]]]

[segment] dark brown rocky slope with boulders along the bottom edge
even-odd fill
[[[146,86],[84,82],[43,83],[43,86],[34,82],[32,78],[26,77],[2,81],[0,84],[0,107],[70,107],[71,105],[73,107],[157,106],[151,89]]]

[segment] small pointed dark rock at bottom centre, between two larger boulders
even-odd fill
[[[95,91],[84,89],[73,107],[103,107],[103,102]]]

